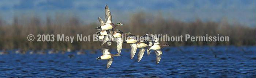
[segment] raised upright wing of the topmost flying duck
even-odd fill
[[[112,16],[111,16],[108,5],[106,5],[105,7],[105,21],[106,21],[106,24],[112,24]]]

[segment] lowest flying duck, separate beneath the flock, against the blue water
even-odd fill
[[[110,65],[112,64],[113,60],[114,60],[114,56],[121,56],[120,54],[111,54],[109,52],[109,49],[101,49],[102,50],[102,56],[96,58],[96,60],[108,60],[107,62],[107,69],[110,67]]]

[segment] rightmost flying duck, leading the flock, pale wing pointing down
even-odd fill
[[[167,44],[165,45],[160,45],[159,43],[159,37],[161,36],[154,36],[153,34],[147,34],[148,36],[151,36],[153,38],[154,44],[149,48],[150,50],[154,50],[155,51],[155,55],[156,55],[156,64],[158,65],[159,61],[161,60],[162,54],[163,52],[161,51],[161,49],[165,46],[169,46]]]

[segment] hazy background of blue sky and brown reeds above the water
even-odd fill
[[[29,42],[26,37],[92,35],[97,18],[105,18],[106,4],[113,22],[125,24],[118,27],[124,32],[230,36],[230,42],[163,42],[171,46],[256,43],[255,0],[0,0],[0,49],[99,48],[99,42]]]

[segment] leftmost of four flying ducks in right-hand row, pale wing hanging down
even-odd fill
[[[122,47],[123,47],[123,37],[122,36],[123,35],[127,36],[127,35],[130,35],[130,34],[132,34],[132,33],[130,33],[130,32],[123,33],[118,29],[114,30],[113,37],[116,38],[117,53],[118,54],[121,54],[121,50],[122,50]]]

